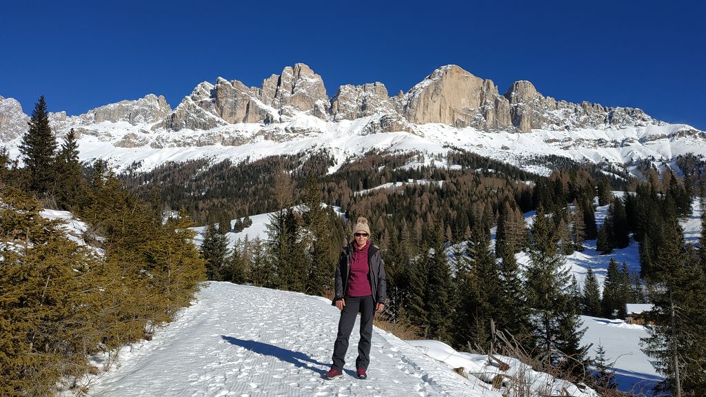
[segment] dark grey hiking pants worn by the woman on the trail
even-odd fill
[[[371,337],[373,336],[373,316],[375,302],[372,295],[366,297],[346,297],[346,305],[341,310],[338,320],[338,335],[333,345],[333,365],[331,368],[343,371],[348,351],[348,338],[351,336],[355,319],[360,312],[360,341],[358,342],[358,358],[355,360],[356,369],[368,369],[370,364]]]

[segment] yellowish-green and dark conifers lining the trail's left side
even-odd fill
[[[162,223],[160,202],[126,191],[102,161],[84,177],[73,133],[58,147],[41,97],[24,167],[0,150],[2,396],[85,392],[78,379],[101,370],[90,355],[151,338],[205,279],[186,214]],[[73,211],[89,245],[42,218],[45,206]]]

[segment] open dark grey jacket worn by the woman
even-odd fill
[[[333,297],[331,304],[335,305],[337,300],[346,296],[353,249],[352,244],[348,244],[343,247],[340,256],[338,256],[334,283],[335,297]],[[370,269],[368,272],[368,281],[370,282],[370,289],[373,291],[373,299],[376,303],[384,304],[388,297],[388,284],[387,281],[385,281],[385,264],[383,263],[383,258],[380,256],[380,250],[373,244],[370,244],[370,247],[368,247],[368,267]]]

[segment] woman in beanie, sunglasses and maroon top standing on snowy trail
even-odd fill
[[[358,358],[355,360],[356,374],[366,379],[370,363],[370,340],[373,336],[375,311],[385,309],[387,284],[385,266],[378,247],[370,243],[370,227],[366,218],[358,218],[353,227],[353,241],[343,247],[338,258],[335,275],[335,297],[332,304],[341,311],[338,320],[338,335],[333,345],[333,365],[324,374],[325,379],[342,375],[345,365],[348,338],[353,331],[355,318],[360,312],[360,341]]]

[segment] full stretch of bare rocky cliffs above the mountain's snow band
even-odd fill
[[[174,110],[164,97],[150,94],[97,107],[80,116],[66,117],[65,112],[59,112],[50,117],[57,131],[73,127],[90,133],[90,125],[100,122],[139,124],[146,132],[208,131],[239,123],[282,123],[299,114],[324,122],[371,117],[364,134],[414,132],[415,125],[428,123],[512,132],[664,124],[640,109],[544,97],[529,81],[517,81],[501,95],[493,81],[455,65],[436,69],[407,93],[394,97],[388,95],[383,83],[376,82],[342,85],[329,98],[321,76],[305,64],[295,64],[265,78],[260,87],[247,87],[240,81],[220,77],[215,84],[200,83]],[[17,101],[0,97],[1,141],[23,134],[27,119]]]

